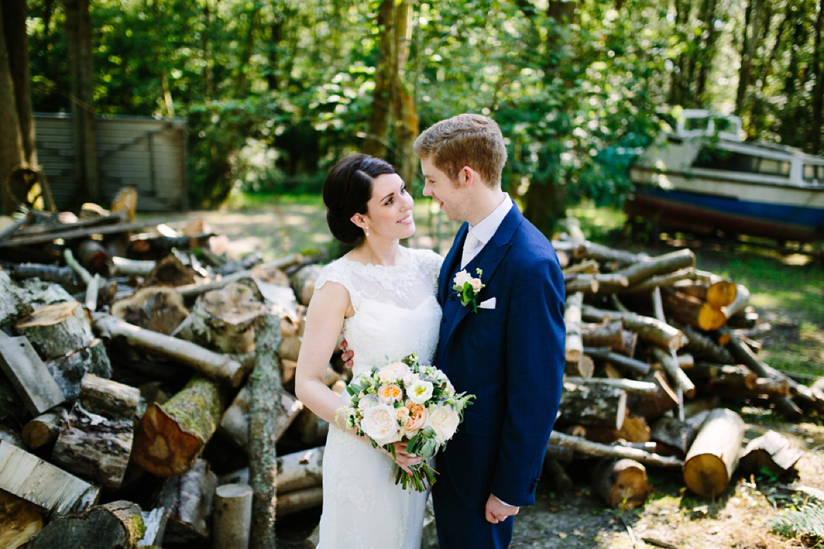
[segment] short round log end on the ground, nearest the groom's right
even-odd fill
[[[647,500],[647,469],[632,459],[604,458],[592,472],[592,491],[613,509],[634,509]]]

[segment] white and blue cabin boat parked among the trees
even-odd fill
[[[742,140],[741,119],[682,109],[630,165],[630,221],[702,235],[824,239],[824,157]]]

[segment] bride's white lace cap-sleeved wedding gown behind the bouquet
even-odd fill
[[[403,266],[330,263],[316,283],[349,291],[355,314],[344,321],[354,351],[353,374],[412,352],[432,361],[441,307],[436,291],[442,258],[410,249]],[[345,393],[344,393],[345,394]],[[418,549],[428,493],[395,484],[396,465],[366,440],[330,426],[323,458],[323,514],[318,549]]]

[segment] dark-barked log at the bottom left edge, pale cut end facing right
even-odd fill
[[[131,501],[112,501],[54,519],[27,547],[131,549],[143,538],[144,529],[139,505]]]

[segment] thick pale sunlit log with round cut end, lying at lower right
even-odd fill
[[[729,486],[738,464],[744,422],[732,410],[709,412],[684,459],[684,483],[695,494],[715,498]]]

